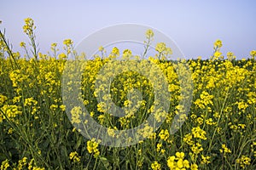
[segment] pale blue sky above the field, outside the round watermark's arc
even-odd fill
[[[256,49],[256,1],[15,1],[2,0],[1,30],[6,28],[16,50],[27,41],[22,31],[24,19],[35,20],[41,51],[46,53],[52,42],[80,42],[84,37],[121,23],[152,26],[171,37],[186,58],[204,59],[212,54],[212,43],[223,41],[223,53],[234,52],[247,57]],[[171,47],[172,48],[172,47]]]

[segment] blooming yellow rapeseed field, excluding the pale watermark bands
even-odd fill
[[[115,130],[137,127],[148,118],[155,110],[155,93],[160,92],[136,71],[120,73],[110,87],[96,87],[96,81],[106,81],[109,76],[97,77],[102,66],[119,57],[130,59],[130,49],[121,52],[113,48],[106,55],[100,47],[102,56],[86,59],[76,53],[73,41],[67,39],[63,42],[65,53],[59,53],[58,45],[52,43],[49,54],[41,54],[35,29],[34,21],[27,18],[23,31],[29,44],[20,42],[25,56],[11,49],[1,31],[1,169],[256,169],[255,50],[249,52],[250,59],[237,60],[231,52],[224,56],[223,42],[217,40],[212,44],[210,59],[172,61],[168,59],[172,47],[159,42],[156,54],[148,60],[160,67],[168,82],[171,95],[164,96],[170,103],[168,112],[159,109],[154,114],[156,122],[164,122],[155,132],[146,123],[138,132],[143,140],[137,144],[113,147],[101,144],[100,139],[84,138],[79,127],[88,121],[81,118],[84,114],[81,108],[73,105],[71,112],[66,113],[61,84],[69,57],[86,60],[80,89],[84,106],[91,118],[108,128],[108,135],[113,139],[119,139],[120,135]],[[146,47],[153,37],[154,32],[148,30]],[[183,113],[184,105],[179,102],[186,98],[176,70],[181,63],[189,66],[193,82],[193,87],[185,87],[193,88],[188,115]],[[142,60],[131,67],[137,65],[146,64]],[[119,65],[113,63],[113,67],[118,69]],[[130,95],[137,93],[135,89],[142,96]],[[114,105],[125,108],[124,116],[109,112],[113,107],[108,102],[110,99]],[[177,115],[183,126],[170,133]]]

